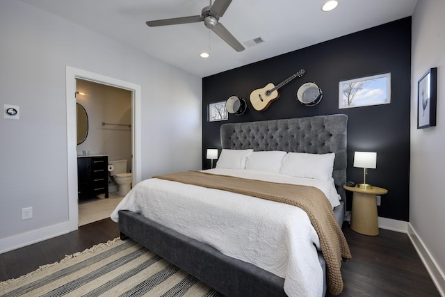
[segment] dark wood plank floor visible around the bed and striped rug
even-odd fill
[[[365,236],[344,224],[343,232],[353,259],[343,263],[344,289],[341,296],[440,296],[406,234],[380,230],[379,236]],[[119,236],[110,219],[79,227],[54,239],[0,254],[0,281],[17,278]],[[332,295],[327,294],[331,297]]]

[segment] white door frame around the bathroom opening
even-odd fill
[[[131,154],[133,186],[141,180],[141,87],[135,83],[122,81],[102,74],[88,72],[66,66],[66,101],[67,101],[67,188],[68,215],[70,231],[77,230],[79,224],[79,207],[77,201],[77,119],[76,119],[76,79],[84,79],[95,83],[102,83],[115,88],[131,91]]]

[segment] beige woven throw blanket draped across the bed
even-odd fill
[[[213,175],[199,171],[157,175],[154,178],[216,188],[300,207],[306,211],[320,239],[321,252],[327,268],[327,289],[334,295],[343,291],[341,260],[350,259],[350,250],[335,219],[330,202],[318,188]]]

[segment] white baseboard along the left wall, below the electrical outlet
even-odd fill
[[[70,222],[63,222],[38,230],[32,230],[30,232],[9,236],[4,239],[0,239],[0,254],[10,250],[15,250],[16,248],[29,246],[30,244],[44,241],[46,239],[51,239],[56,236],[67,234],[68,232],[76,229],[77,226],[75,226],[73,229]]]

